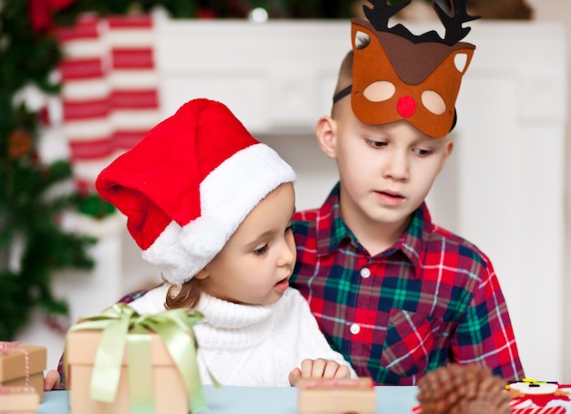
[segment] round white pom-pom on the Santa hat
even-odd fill
[[[181,244],[194,256],[212,259],[230,238],[223,223],[210,217],[198,217],[182,227]]]

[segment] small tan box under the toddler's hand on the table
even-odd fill
[[[370,378],[301,379],[296,387],[299,414],[374,414],[377,410],[375,388]]]

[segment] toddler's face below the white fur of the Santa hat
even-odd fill
[[[195,277],[209,295],[238,304],[270,305],[289,286],[296,263],[291,230],[292,183],[270,192],[240,224],[223,250]]]

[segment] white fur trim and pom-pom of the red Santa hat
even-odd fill
[[[201,182],[201,217],[180,226],[171,222],[143,258],[161,267],[163,276],[180,285],[218,254],[244,218],[280,184],[296,173],[265,144],[239,150]]]

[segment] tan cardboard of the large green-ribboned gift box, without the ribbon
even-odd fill
[[[129,334],[132,336],[133,334]],[[140,334],[135,334],[140,335]],[[189,396],[182,376],[174,364],[161,336],[151,336],[152,378],[137,378],[152,381],[155,414],[187,413]],[[128,350],[125,348],[120,368],[119,386],[113,402],[103,402],[90,397],[91,376],[101,339],[101,331],[78,330],[67,335],[67,367],[69,368],[70,414],[125,414],[130,411],[130,381]],[[144,361],[140,361],[143,363]],[[200,381],[200,380],[199,380]]]

